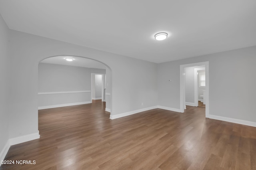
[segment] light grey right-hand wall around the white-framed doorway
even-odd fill
[[[255,54],[253,46],[158,64],[158,105],[180,109],[180,65],[209,61],[210,115],[256,122]]]

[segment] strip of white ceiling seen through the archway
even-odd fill
[[[73,58],[73,61],[66,61],[65,58]],[[99,61],[92,59],[86,59],[83,57],[74,57],[74,56],[56,56],[50,57],[42,60],[40,63],[50,63],[50,64],[60,64],[60,65],[70,65],[76,67],[88,67],[96,69],[106,69],[106,66]]]

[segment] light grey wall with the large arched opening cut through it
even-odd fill
[[[38,63],[51,56],[88,57],[108,65],[112,115],[157,104],[156,63],[14,30],[10,33],[10,138],[38,132]]]

